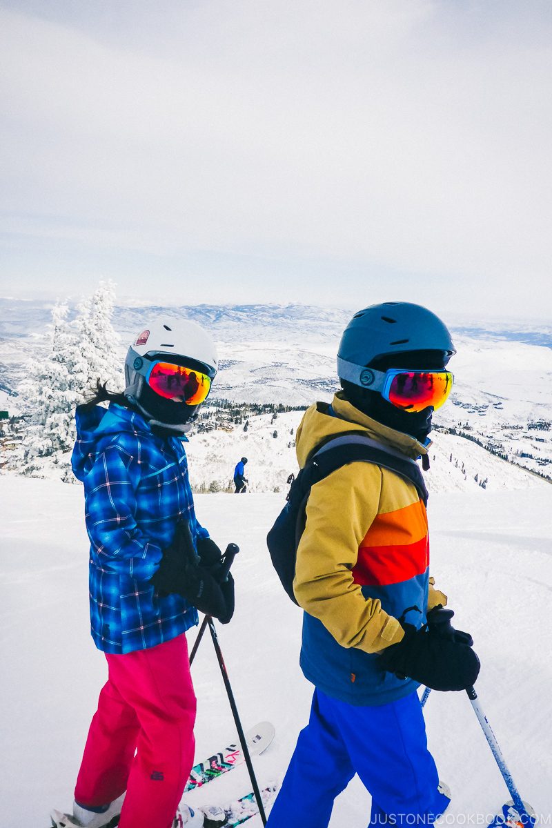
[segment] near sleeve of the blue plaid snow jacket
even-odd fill
[[[140,469],[134,458],[117,445],[110,445],[98,455],[84,479],[86,529],[98,558],[109,571],[149,580],[159,566],[162,551],[136,522],[139,480]]]

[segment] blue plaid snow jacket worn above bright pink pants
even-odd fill
[[[71,463],[84,483],[90,538],[90,621],[103,652],[155,647],[198,623],[180,595],[162,597],[149,583],[176,523],[199,526],[182,440],[152,433],[141,414],[110,403],[77,409]]]

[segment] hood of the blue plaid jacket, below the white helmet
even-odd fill
[[[74,444],[71,465],[74,476],[79,480],[84,480],[91,455],[98,454],[103,450],[103,446],[122,432],[147,435],[150,439],[156,439],[142,414],[130,408],[118,406],[115,402],[111,402],[108,408],[79,406],[74,418],[77,426],[77,441]]]

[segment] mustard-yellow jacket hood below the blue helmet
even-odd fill
[[[331,403],[317,402],[305,412],[297,429],[297,460],[302,469],[310,455],[324,443],[336,436],[344,434],[362,434],[372,440],[378,440],[382,445],[389,445],[401,451],[412,460],[420,455],[426,455],[431,445],[422,445],[415,437],[395,431],[372,417],[358,411],[338,392]]]

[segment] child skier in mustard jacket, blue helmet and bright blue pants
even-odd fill
[[[311,407],[297,432],[300,466],[345,435],[425,457],[454,353],[449,331],[421,306],[360,311],[339,346],[343,391]],[[355,773],[372,794],[371,826],[432,822],[448,806],[416,690],[464,689],[479,663],[467,635],[444,639],[431,615],[428,623],[446,604],[429,564],[425,503],[409,479],[353,462],[313,485],[293,590],[305,610],[300,665],[314,698],[269,828],[328,826]]]

